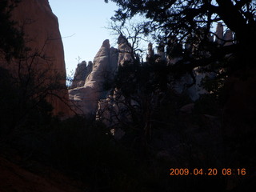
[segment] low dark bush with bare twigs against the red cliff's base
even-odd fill
[[[55,76],[50,77],[50,67],[37,67],[42,61],[52,62],[42,54],[43,49],[32,50],[24,46],[18,55],[10,54],[10,58],[5,61],[12,68],[6,70],[0,67],[1,128],[5,130],[5,134],[10,134],[10,137],[20,128],[47,124],[53,110],[47,102],[47,97],[58,96],[56,90],[65,89],[61,84],[63,77],[57,72]]]

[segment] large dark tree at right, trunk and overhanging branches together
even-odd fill
[[[255,153],[255,71],[256,57],[256,2],[252,0],[111,0],[119,9],[112,18],[121,21],[139,15],[146,18],[143,34],[150,34],[165,45],[172,39],[186,47],[193,46],[193,53],[182,51],[182,59],[170,66],[172,74],[191,73],[194,68],[224,72],[221,81],[210,85],[210,89],[222,88],[225,95],[222,110],[222,133],[229,157],[236,164],[253,165]],[[105,0],[105,2],[109,2]],[[233,31],[234,39],[225,41],[213,33],[216,22]],[[209,41],[214,34],[222,43]],[[171,41],[170,41],[171,42]],[[226,45],[226,42],[228,43]],[[170,46],[172,43],[170,43]],[[168,45],[169,46],[169,45]],[[171,47],[170,47],[171,48]],[[207,66],[207,67],[204,67]],[[218,85],[220,83],[220,85]],[[209,87],[209,86],[208,86]],[[212,99],[214,101],[214,99]],[[208,103],[202,102],[207,106]],[[212,110],[212,109],[210,109]],[[234,152],[235,151],[235,152]],[[244,158],[240,158],[244,157]]]

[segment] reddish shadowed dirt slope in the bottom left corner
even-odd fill
[[[42,167],[40,167],[42,170]],[[35,174],[0,157],[0,192],[82,192],[78,182],[44,167],[45,175]]]

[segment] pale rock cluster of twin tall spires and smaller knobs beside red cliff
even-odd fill
[[[78,64],[72,83],[73,89],[69,90],[70,102],[77,114],[96,114],[98,101],[106,99],[110,94],[104,89],[104,83],[114,78],[119,65],[132,61],[131,54],[129,42],[120,35],[118,49],[110,47],[108,39],[102,43],[102,47],[94,57],[92,70],[90,64],[88,66],[85,62]],[[103,105],[103,102],[99,105]]]

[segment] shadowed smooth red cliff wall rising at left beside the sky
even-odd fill
[[[14,76],[18,75],[19,69],[25,74],[29,69],[33,70],[34,75],[41,75],[41,80],[44,78],[42,82],[45,86],[58,81],[58,89],[53,90],[47,100],[54,107],[54,115],[69,116],[62,38],[58,18],[53,14],[48,0],[22,0],[14,8],[12,19],[23,30],[25,45],[30,50],[24,50],[26,58],[22,62],[18,61],[20,66],[17,60],[12,61],[11,65],[1,62],[1,66],[10,70]]]

